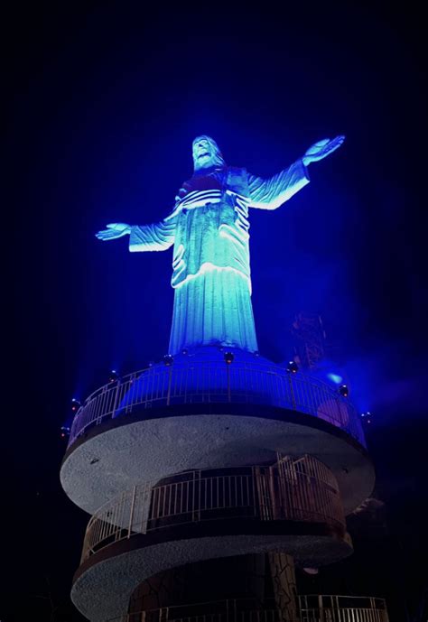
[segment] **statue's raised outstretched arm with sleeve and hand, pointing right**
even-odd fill
[[[248,174],[248,188],[250,194],[250,208],[277,209],[293,197],[309,183],[307,167],[312,162],[318,162],[339,149],[345,136],[336,136],[330,140],[325,138],[312,144],[300,160],[294,162],[288,169],[284,169],[273,177],[263,180],[261,177]]]

